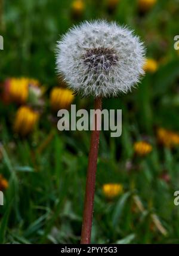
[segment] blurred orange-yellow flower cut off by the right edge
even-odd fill
[[[172,132],[171,130],[159,128],[157,130],[157,137],[159,143],[165,147],[171,148],[179,145],[179,134]]]

